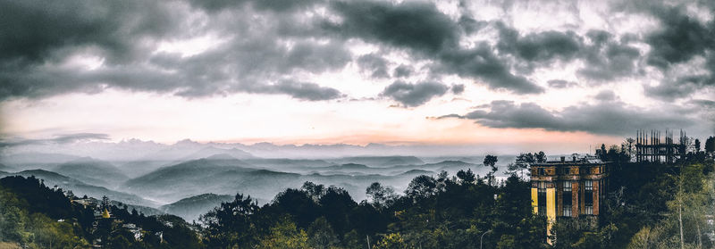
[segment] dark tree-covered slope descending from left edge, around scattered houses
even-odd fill
[[[137,215],[127,211],[123,204],[105,207],[114,219],[95,220],[94,212],[102,208],[101,205],[95,209],[71,203],[61,189],[46,187],[34,177],[2,178],[0,241],[28,248],[88,248],[89,242],[101,238],[99,245],[111,248],[203,248],[196,228],[189,228],[179,217]],[[93,222],[97,222],[96,229]],[[141,240],[122,228],[121,222],[142,228],[145,233]],[[156,237],[156,232],[163,233],[164,243]]]

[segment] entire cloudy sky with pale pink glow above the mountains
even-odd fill
[[[636,129],[715,135],[712,1],[3,0],[0,10],[4,145],[568,153]]]

